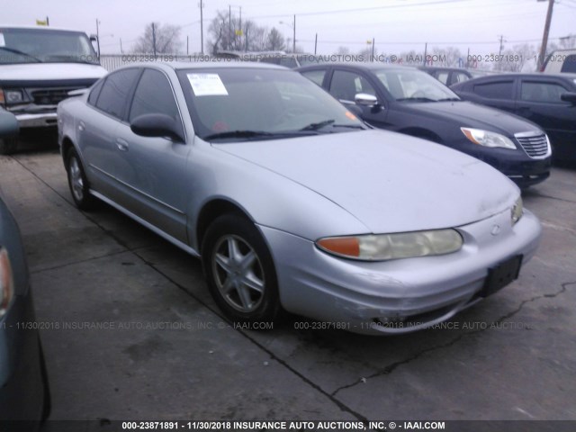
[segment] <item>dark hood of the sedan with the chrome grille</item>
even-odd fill
[[[401,103],[406,110],[422,112],[429,116],[437,116],[450,121],[458,121],[461,126],[493,130],[512,136],[518,132],[540,131],[536,124],[494,108],[472,102],[427,102]]]

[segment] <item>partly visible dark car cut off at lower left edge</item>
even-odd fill
[[[0,139],[17,129],[14,115],[0,109]],[[22,238],[0,193],[0,426],[38,430],[49,408],[48,375]]]

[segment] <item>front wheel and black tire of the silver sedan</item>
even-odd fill
[[[230,260],[231,255],[236,257]],[[274,261],[253,222],[237,214],[214,220],[202,241],[202,266],[210,293],[229,320],[280,318]]]

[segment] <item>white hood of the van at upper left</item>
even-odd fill
[[[70,79],[97,79],[106,75],[99,65],[85,63],[26,63],[0,65],[2,81],[64,81]]]

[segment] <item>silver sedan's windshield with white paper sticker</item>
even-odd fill
[[[178,72],[194,130],[206,140],[279,139],[366,129],[308,78],[285,69]]]

